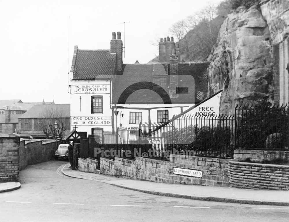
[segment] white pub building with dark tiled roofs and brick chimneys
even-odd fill
[[[75,46],[70,73],[71,129],[97,135],[139,123],[164,123],[208,98],[208,62],[179,62],[178,44],[161,38],[159,62],[123,64],[121,33],[110,50]],[[196,112],[218,114],[220,95]],[[206,106],[206,107],[205,107]],[[209,110],[208,110],[209,109]],[[192,112],[192,111],[190,111]]]

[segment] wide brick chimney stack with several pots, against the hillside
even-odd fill
[[[163,41],[164,40],[164,41]],[[159,62],[170,62],[172,50],[175,49],[175,42],[173,37],[164,37],[159,42]]]

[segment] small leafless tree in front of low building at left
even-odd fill
[[[39,128],[43,130],[47,138],[61,138],[67,126],[65,124],[64,113],[55,108],[50,108],[42,113],[43,118],[39,122]],[[54,123],[57,121],[58,127],[55,129]]]

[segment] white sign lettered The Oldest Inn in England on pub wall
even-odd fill
[[[78,126],[109,126],[111,116],[71,116],[71,123]]]

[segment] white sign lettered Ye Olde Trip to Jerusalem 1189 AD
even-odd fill
[[[107,94],[110,85],[71,85],[71,94]]]

